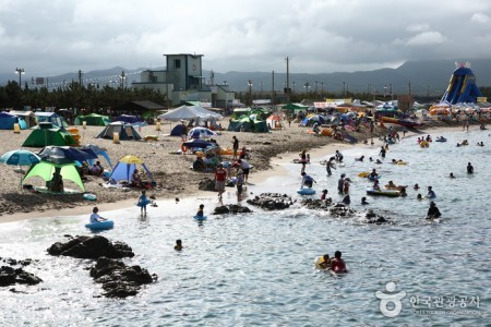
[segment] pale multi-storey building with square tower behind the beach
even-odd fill
[[[141,82],[131,83],[135,88],[153,88],[163,94],[168,106],[185,101],[211,102],[212,107],[230,108],[235,93],[228,85],[216,85],[213,77],[205,82],[202,70],[203,55],[164,55],[166,70],[147,70],[141,73]],[[168,95],[168,96],[167,96]]]

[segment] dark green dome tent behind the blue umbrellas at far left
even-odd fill
[[[76,145],[76,141],[64,129],[53,128],[49,123],[46,125],[45,123],[39,123],[22,144],[22,146],[27,147],[44,147],[48,145]]]

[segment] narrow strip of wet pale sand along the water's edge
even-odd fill
[[[462,131],[460,126],[427,126],[424,130],[409,130],[406,133],[406,136],[404,138],[419,135],[419,134],[428,134],[424,133],[426,131],[431,132],[431,134],[444,134],[444,131],[448,132],[458,132]],[[371,138],[371,137],[368,137]],[[367,138],[367,140],[368,140]],[[379,147],[383,143],[376,137],[373,137],[375,141],[374,146],[370,146],[370,148]],[[330,138],[333,141],[332,138]],[[400,138],[403,140],[403,137]],[[330,142],[322,146],[315,146],[310,149],[308,149],[308,153],[311,156],[311,160],[318,160],[320,157],[325,157],[327,154],[334,154],[336,149],[354,149],[354,148],[360,148],[363,149],[366,145],[362,143],[356,143],[356,144],[347,144],[347,143],[337,143],[337,142]],[[273,157],[270,157],[270,168],[256,170],[253,171],[253,173],[250,175],[251,180],[255,181],[254,185],[261,187],[262,185],[266,184],[267,179],[270,178],[278,178],[282,175],[287,174],[287,169],[283,167],[284,164],[291,162],[294,159],[298,158],[297,152],[284,152],[279,153]],[[233,189],[235,190],[235,189]],[[232,191],[233,192],[233,191]],[[197,190],[195,192],[190,192],[182,196],[182,194],[172,194],[171,196],[164,196],[164,197],[157,197],[158,201],[168,202],[171,201],[171,197],[173,195],[176,196],[182,196],[182,199],[197,199],[197,198],[208,198],[209,195],[215,195],[215,192],[212,191],[201,191]],[[213,198],[214,196],[212,196]],[[61,209],[46,209],[46,210],[37,210],[37,211],[29,211],[29,213],[14,213],[12,215],[3,215],[0,216],[0,223],[4,222],[14,222],[14,221],[21,221],[21,220],[28,220],[28,219],[38,219],[38,218],[49,218],[49,217],[70,217],[70,216],[81,216],[81,215],[89,215],[92,211],[92,208],[94,206],[98,206],[99,209],[104,213],[107,211],[115,211],[119,209],[124,208],[131,208],[134,207],[135,198],[124,198],[119,199],[115,202],[94,202],[94,203],[87,203],[85,205],[77,205],[74,207],[65,207]],[[33,217],[34,216],[34,217]]]

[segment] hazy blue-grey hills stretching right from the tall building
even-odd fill
[[[371,89],[379,94],[384,93],[384,86],[388,88],[392,84],[393,93],[407,93],[409,82],[414,94],[426,95],[428,89],[430,95],[442,95],[448,86],[448,81],[455,70],[455,61],[465,60],[434,60],[434,61],[408,61],[396,69],[380,69],[374,71],[359,71],[352,73],[320,73],[320,74],[290,74],[290,88],[306,92],[304,84],[309,82],[310,92],[315,90],[315,81],[318,81],[318,92],[321,92],[321,82],[324,83],[324,92],[340,94],[343,92],[343,82],[349,92],[367,92],[369,84]],[[477,85],[479,87],[491,86],[491,59],[480,59],[469,61],[471,70],[476,74]],[[227,81],[227,84],[235,90],[248,90],[248,81],[252,81],[253,92],[271,90],[271,72],[228,72],[225,74],[214,73],[217,84]],[[207,76],[207,75],[205,75]],[[283,89],[286,81],[286,72],[275,72],[275,89]],[[429,86],[429,88],[428,88]]]

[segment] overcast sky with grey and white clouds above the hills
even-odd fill
[[[0,71],[165,65],[332,73],[491,57],[490,0],[0,0]]]

